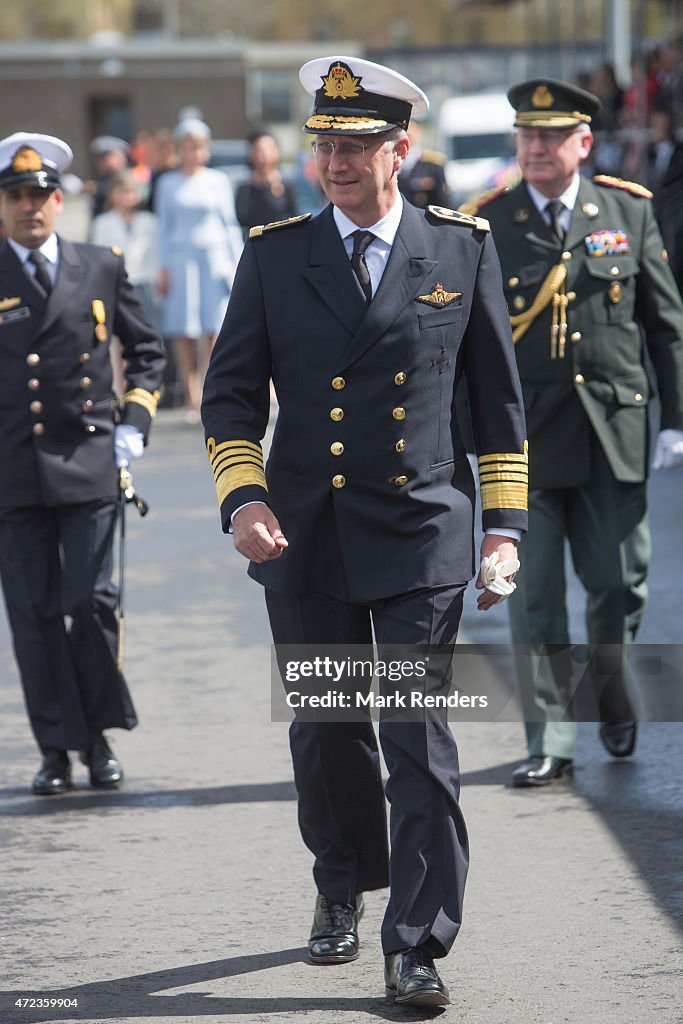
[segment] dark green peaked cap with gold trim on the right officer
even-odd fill
[[[600,110],[592,92],[554,78],[532,78],[508,91],[516,111],[515,128],[572,128],[590,125]]]

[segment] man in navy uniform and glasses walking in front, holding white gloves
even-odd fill
[[[223,529],[265,588],[275,645],[367,647],[372,626],[378,650],[449,646],[474,572],[474,480],[453,411],[462,375],[474,395],[482,555],[515,565],[526,524],[496,250],[484,220],[417,210],[398,191],[411,113],[427,109],[417,86],[355,57],[312,60],[300,78],[314,96],[304,130],[330,205],[252,228],[245,247],[203,403]],[[264,473],[270,377],[280,415]],[[482,591],[479,606],[496,600]],[[449,673],[428,673],[427,687],[447,690]],[[387,994],[445,1005],[434,957],[460,928],[468,863],[445,712],[380,723],[390,864],[372,723],[297,720],[290,737],[318,890],[310,958],[354,959],[360,894],[390,885]]]

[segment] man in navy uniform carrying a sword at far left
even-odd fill
[[[93,786],[123,775],[103,735],[136,723],[117,667],[117,466],[142,452],[165,362],[121,253],[55,233],[71,159],[49,135],[0,142],[0,574],[45,796],[71,786],[71,750]]]

